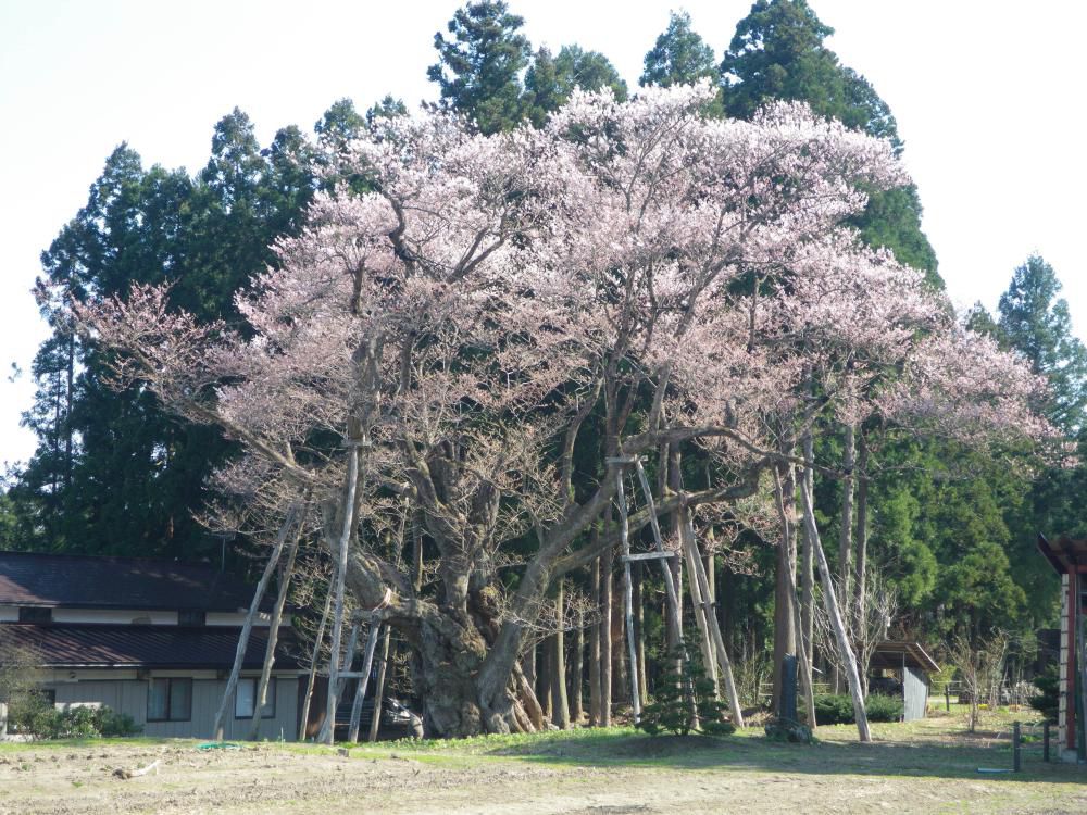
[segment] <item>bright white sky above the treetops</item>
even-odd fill
[[[810,0],[829,46],[888,102],[925,206],[940,274],[960,305],[990,310],[1040,252],[1087,331],[1083,32],[1078,0]],[[199,170],[235,105],[262,145],[309,130],[342,97],[409,105],[435,32],[459,0],[0,0],[0,462],[34,451],[18,427],[30,360],[46,337],[29,288],[38,255],[86,203],[107,155]],[[510,0],[534,46],[602,51],[633,86],[642,58],[686,9],[722,54],[751,0]],[[8,381],[11,363],[23,368]]]

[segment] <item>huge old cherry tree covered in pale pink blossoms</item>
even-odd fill
[[[348,159],[371,191],[316,197],[238,296],[243,326],[167,288],[80,311],[118,379],[240,442],[224,481],[323,504],[345,590],[415,651],[432,734],[542,726],[517,657],[550,587],[614,546],[624,460],[703,451],[709,482],[653,502],[697,512],[801,463],[819,416],[1040,427],[1016,424],[1033,383],[1010,358],[960,388],[949,354],[976,338],[842,226],[905,181],[891,148],[799,104],[708,121],[712,97],[576,92],[495,136],[383,121]],[[422,591],[373,535],[403,500],[437,552]]]

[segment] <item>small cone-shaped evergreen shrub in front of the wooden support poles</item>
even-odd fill
[[[692,705],[698,711],[697,728]],[[724,714],[725,705],[714,697],[701,660],[695,653],[684,660],[680,651],[673,651],[664,660],[653,701],[641,712],[637,727],[650,736],[665,731],[687,736],[695,729],[708,736],[727,736],[736,728]]]

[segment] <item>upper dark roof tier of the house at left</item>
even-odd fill
[[[0,603],[83,609],[248,609],[253,589],[213,566],[0,552]]]

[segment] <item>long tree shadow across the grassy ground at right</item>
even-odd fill
[[[992,781],[1087,782],[1087,767],[1046,764],[1041,745],[1024,744],[1023,772],[979,774],[978,767],[1011,769],[1009,741],[940,743],[932,740],[895,741],[880,738],[869,744],[820,740],[815,744],[773,742],[761,732],[725,738],[704,736],[644,736],[588,731],[588,735],[537,739],[485,750],[487,755],[518,757],[547,764],[578,766],[655,766],[719,772],[799,773],[978,779]]]

